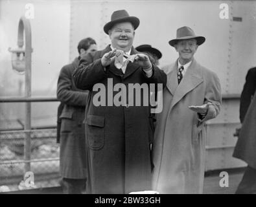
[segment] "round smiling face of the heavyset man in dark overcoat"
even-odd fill
[[[117,23],[108,32],[111,45],[119,50],[128,52],[134,42],[134,27],[130,22]]]

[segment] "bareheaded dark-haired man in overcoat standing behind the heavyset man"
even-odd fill
[[[60,71],[57,98],[64,104],[60,113],[60,175],[64,193],[82,193],[86,186],[86,138],[84,112],[88,91],[77,89],[72,80],[81,56],[97,50],[94,39],[78,43],[78,58]]]

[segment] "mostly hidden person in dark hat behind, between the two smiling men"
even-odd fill
[[[135,47],[135,49],[139,52],[147,54],[152,63],[159,65],[159,59],[162,57],[162,54],[159,50],[152,47],[151,45],[139,45],[138,47]]]

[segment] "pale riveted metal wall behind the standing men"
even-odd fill
[[[228,5],[228,18],[220,17],[220,4]],[[99,49],[110,43],[104,25],[114,10],[126,9],[140,19],[134,46],[150,44],[161,50],[160,66],[172,63],[178,53],[170,47],[179,27],[189,26],[206,41],[195,54],[199,63],[216,72],[224,96],[239,96],[246,72],[255,64],[255,1],[71,1],[70,58],[77,56],[78,41],[94,38]],[[235,18],[234,18],[235,17]],[[219,116],[207,122],[206,169],[235,168],[244,162],[232,157],[233,137],[239,127],[239,98],[224,100]]]

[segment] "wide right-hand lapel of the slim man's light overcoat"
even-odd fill
[[[176,81],[172,80],[174,82],[174,87],[176,86],[176,82],[178,83],[177,78],[177,70],[174,70],[176,74]],[[174,75],[172,75],[174,76]],[[176,88],[176,91],[174,93],[174,97],[172,98],[172,103],[170,104],[170,109],[174,107],[176,103],[178,103],[185,94],[189,93],[189,91],[192,91],[196,86],[198,86],[200,83],[204,82],[202,78],[202,71],[201,67],[198,63],[196,63],[195,60],[192,60],[191,65],[187,69],[185,76],[181,80],[180,84]],[[170,84],[172,84],[170,82]]]

